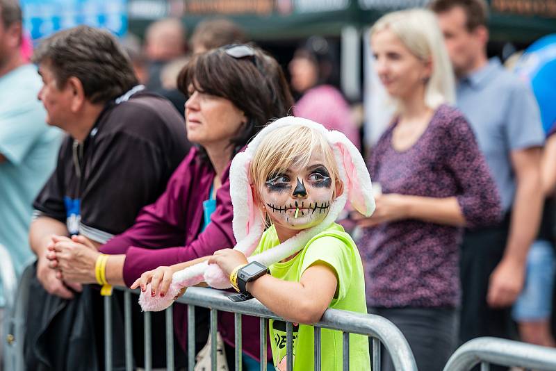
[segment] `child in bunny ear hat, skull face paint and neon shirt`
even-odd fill
[[[363,215],[375,208],[361,154],[345,135],[299,117],[283,117],[256,135],[230,169],[238,244],[202,263],[145,272],[140,304],[157,311],[184,287],[205,281],[234,287],[236,301],[256,297],[294,327],[294,371],[313,368],[313,329],[327,308],[366,313],[363,265],[352,238],[334,221],[349,199]],[[197,260],[199,261],[199,260]],[[270,272],[270,274],[268,274]],[[286,369],[286,324],[270,320],[272,356]],[[350,335],[350,365],[369,370],[368,338]],[[342,368],[342,334],[323,329],[322,365]]]

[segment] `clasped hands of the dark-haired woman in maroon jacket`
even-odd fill
[[[49,267],[58,270],[57,277],[67,282],[96,283],[95,263],[100,253],[83,236],[53,236],[47,258]]]

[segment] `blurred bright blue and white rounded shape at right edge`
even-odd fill
[[[556,124],[556,33],[530,45],[515,66],[516,73],[530,81],[541,108],[546,133]]]

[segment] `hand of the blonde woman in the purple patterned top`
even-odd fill
[[[387,193],[375,196],[375,213],[370,217],[361,214],[352,215],[357,225],[365,228],[377,224],[394,222],[395,220],[407,219],[409,208],[409,196],[398,193]]]

